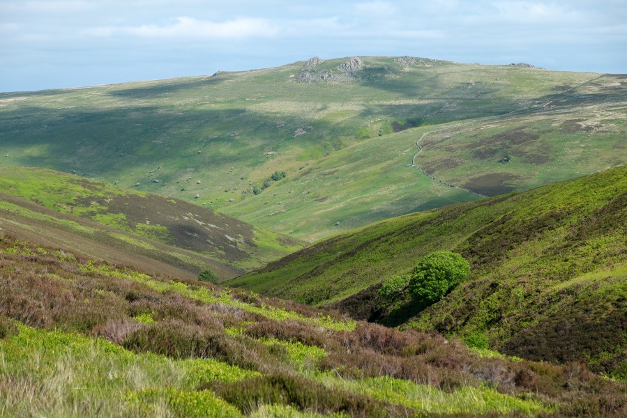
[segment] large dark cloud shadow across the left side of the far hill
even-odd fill
[[[133,91],[130,94],[154,94],[150,89]],[[245,108],[98,107],[96,102],[67,109],[9,109],[0,114],[0,125],[17,146],[10,154],[14,164],[114,177],[119,167],[159,167],[165,158],[194,169],[244,164],[242,155],[248,157],[245,164],[264,161],[264,151],[275,146],[277,139],[299,141],[294,138],[295,130],[313,123],[307,118],[292,118],[280,124],[275,118]],[[332,123],[317,122],[316,127],[318,132],[308,132],[300,141],[323,141],[326,132],[333,132]],[[29,152],[33,146],[45,147],[45,153]],[[136,173],[136,181],[146,183],[147,171]],[[167,181],[163,171],[160,177]],[[153,189],[160,186],[149,184]]]

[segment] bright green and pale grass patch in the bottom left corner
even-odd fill
[[[197,401],[202,401],[199,413],[225,405],[211,394],[196,395],[199,382],[252,376],[213,359],[172,360],[133,353],[105,339],[20,325],[19,334],[0,339],[0,415],[144,415],[128,394],[152,388],[168,410],[188,416]]]

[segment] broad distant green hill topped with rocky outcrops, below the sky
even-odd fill
[[[364,57],[0,93],[1,164],[73,170],[315,240],[476,199],[411,167],[418,140],[417,167],[481,194],[616,166],[626,80]],[[255,195],[275,171],[287,177]]]

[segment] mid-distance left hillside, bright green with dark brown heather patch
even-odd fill
[[[137,258],[142,267],[160,261],[151,271],[165,263],[186,277],[206,268],[234,277],[300,248],[292,238],[186,201],[45,169],[0,167],[0,207],[4,229],[31,231],[40,236],[32,239],[63,242],[89,256]]]

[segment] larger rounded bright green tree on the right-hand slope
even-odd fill
[[[470,265],[460,254],[436,251],[414,268],[409,280],[409,293],[416,300],[437,302],[469,274]]]

